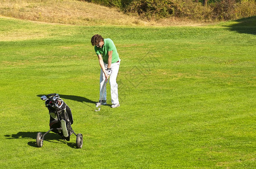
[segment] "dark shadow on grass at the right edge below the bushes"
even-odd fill
[[[256,16],[236,20],[238,23],[229,25],[229,29],[238,33],[256,35]]]

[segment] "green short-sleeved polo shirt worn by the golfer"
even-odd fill
[[[117,48],[114,45],[114,42],[109,38],[104,39],[104,45],[102,48],[95,46],[94,50],[97,55],[101,55],[103,57],[103,61],[105,64],[108,64],[108,51],[113,51],[112,63],[116,63],[119,60]]]

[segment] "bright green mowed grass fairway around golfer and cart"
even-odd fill
[[[94,34],[121,57],[120,108],[101,106]],[[255,168],[255,17],[211,26],[140,28],[0,17],[0,168]],[[110,102],[109,84],[108,104]],[[70,106],[63,141],[41,95]]]

